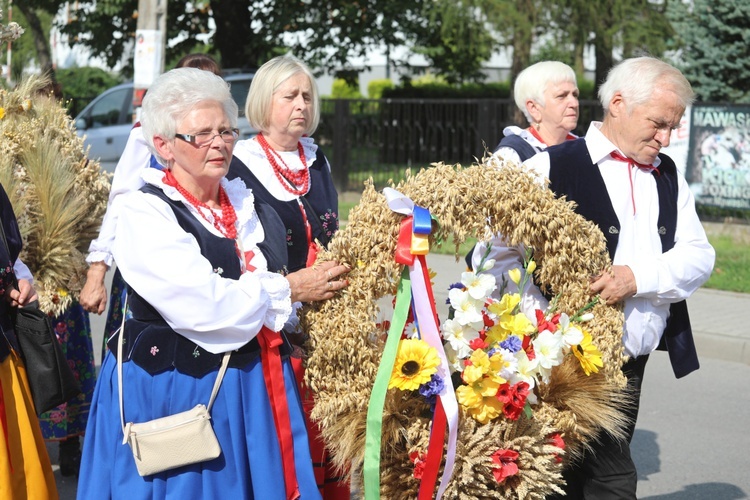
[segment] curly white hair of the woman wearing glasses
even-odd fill
[[[229,84],[220,76],[197,68],[177,68],[160,75],[143,98],[141,126],[151,152],[160,158],[154,147],[154,136],[174,139],[177,125],[193,107],[203,101],[216,101],[224,108],[229,124],[237,127],[237,103],[229,92]]]

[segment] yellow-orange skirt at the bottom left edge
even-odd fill
[[[11,353],[0,362],[0,498],[57,497],[55,476],[34,413],[26,369]]]

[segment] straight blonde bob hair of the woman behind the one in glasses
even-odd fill
[[[273,94],[289,78],[302,73],[310,80],[312,89],[312,115],[305,134],[312,135],[320,122],[320,100],[315,77],[305,63],[292,56],[274,57],[255,73],[245,101],[245,116],[250,125],[261,131],[267,131],[271,121],[271,102]]]

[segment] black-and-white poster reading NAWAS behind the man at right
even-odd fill
[[[750,105],[694,105],[685,175],[703,205],[750,209]]]

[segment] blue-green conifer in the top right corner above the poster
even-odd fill
[[[750,3],[695,0],[670,6],[679,63],[702,101],[750,102]]]

